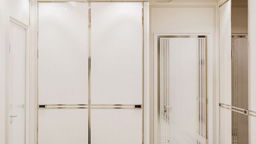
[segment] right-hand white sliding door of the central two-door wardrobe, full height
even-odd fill
[[[91,144],[142,144],[142,3],[91,3]]]

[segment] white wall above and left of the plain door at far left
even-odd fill
[[[11,16],[29,25],[29,8],[29,0],[0,0],[0,144],[5,143],[6,20]]]

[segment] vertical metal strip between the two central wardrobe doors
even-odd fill
[[[91,144],[91,2],[88,3],[88,144]]]

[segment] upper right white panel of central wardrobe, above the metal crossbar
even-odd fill
[[[142,104],[142,3],[92,3],[92,104]]]

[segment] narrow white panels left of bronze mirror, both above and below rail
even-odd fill
[[[231,0],[219,7],[220,25],[220,103],[231,106]],[[232,111],[220,108],[220,144],[232,142]]]

